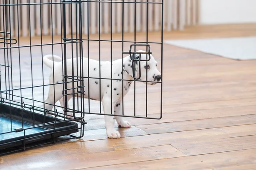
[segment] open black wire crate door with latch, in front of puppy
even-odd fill
[[[88,60],[84,64],[84,69],[88,70],[84,74],[84,91],[91,98],[94,94],[91,91],[98,89],[96,100],[101,101],[109,93],[106,105],[111,106],[107,113],[103,101],[86,100],[85,112],[161,119],[163,1],[82,0],[82,4],[87,7],[84,16],[92,13],[97,16],[96,20],[83,20],[83,25],[87,26],[83,36],[83,56]],[[161,11],[160,15],[151,16],[151,7]],[[93,8],[98,9],[96,14]],[[154,26],[150,25],[152,20]],[[131,27],[130,33],[125,33],[127,27]],[[160,31],[149,34],[152,27]],[[113,34],[116,29],[119,34]],[[95,30],[98,34],[91,35]],[[90,59],[99,61],[95,70],[91,69]],[[118,108],[121,110],[117,114],[115,109]]]

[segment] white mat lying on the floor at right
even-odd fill
[[[256,37],[166,40],[165,43],[230,59],[256,59]]]

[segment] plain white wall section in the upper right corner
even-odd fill
[[[200,0],[199,24],[256,23],[256,0]]]

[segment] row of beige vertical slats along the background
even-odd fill
[[[112,1],[122,2],[122,0]],[[27,0],[19,0],[18,2],[27,3]],[[30,0],[30,3],[39,2],[40,0]],[[47,2],[50,1],[42,0],[42,3]],[[52,2],[59,2],[59,0],[52,0]],[[125,0],[125,2],[128,2],[128,0]],[[129,2],[134,2],[134,0],[129,0]],[[101,33],[110,33],[111,26],[113,33],[120,33],[122,32],[122,22],[124,24],[124,32],[134,32],[134,29],[138,32],[146,31],[147,26],[149,32],[160,31],[162,23],[162,0],[137,0],[136,2],[142,2],[136,3],[136,11],[135,3],[112,3],[111,7],[110,3],[100,3],[99,6],[98,2],[90,2],[89,6],[87,6],[88,3],[83,2],[83,33],[98,34],[99,31]],[[147,4],[146,2],[153,3]],[[10,3],[17,3],[17,1],[10,0]],[[3,4],[3,1],[0,0],[0,4]],[[198,23],[199,0],[163,0],[163,4],[164,31],[183,30],[185,26],[196,25]],[[110,8],[112,8],[112,12]],[[124,14],[123,17],[122,14]],[[146,20],[147,17],[148,21]],[[5,24],[6,19],[7,26]],[[19,20],[19,25],[17,20]],[[66,21],[67,34],[71,34],[71,26],[73,27],[73,33],[76,33],[75,4],[72,6],[70,4],[66,5]],[[87,29],[88,24],[89,31]],[[134,27],[135,24],[136,28]],[[29,32],[31,36],[41,35],[41,32],[43,35],[61,34],[61,6],[60,4],[53,4],[52,6],[49,4],[41,5],[40,14],[40,6],[31,5],[30,15],[29,6],[27,5],[19,6],[18,9],[17,6],[0,6],[0,31],[3,30],[11,31],[12,36],[17,36],[19,30],[20,36],[24,37],[28,36]]]

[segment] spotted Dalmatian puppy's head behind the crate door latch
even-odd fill
[[[137,52],[145,52],[145,51],[137,51]],[[141,60],[148,60],[149,54],[140,54]],[[136,54],[135,59],[139,59],[139,54]],[[157,61],[154,57],[150,54],[149,61],[134,61],[134,70],[136,78],[140,77],[140,80],[148,81],[149,85],[155,85],[162,79],[160,72],[157,70]],[[140,69],[138,69],[140,66]],[[132,64],[129,68],[130,75],[133,75]],[[139,74],[140,73],[140,74]],[[132,76],[133,77],[133,76]],[[146,82],[144,82],[146,83]]]

